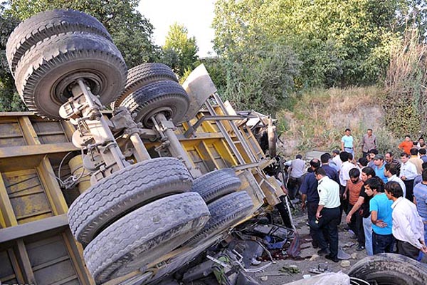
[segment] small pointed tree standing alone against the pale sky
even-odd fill
[[[193,70],[194,63],[199,59],[196,38],[189,38],[187,29],[178,23],[169,27],[163,51],[164,63],[174,69],[178,76]]]

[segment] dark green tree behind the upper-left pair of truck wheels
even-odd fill
[[[6,42],[19,21],[41,11],[75,9],[97,18],[110,32],[128,68],[158,61],[161,52],[152,43],[153,26],[136,10],[138,0],[14,0],[0,4],[0,110],[24,110],[6,62]],[[132,32],[130,32],[132,31]]]

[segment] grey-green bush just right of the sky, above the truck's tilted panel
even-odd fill
[[[236,58],[221,58],[226,82],[218,89],[238,110],[273,114],[286,106],[300,61],[288,46],[255,44],[249,48],[250,52]]]

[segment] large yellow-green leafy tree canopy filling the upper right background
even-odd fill
[[[302,61],[297,87],[370,85],[384,78],[402,20],[419,10],[411,24],[425,26],[426,11],[414,7],[406,0],[218,0],[214,48],[238,58],[254,44],[285,44]]]

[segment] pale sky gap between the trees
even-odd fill
[[[214,54],[214,19],[215,0],[140,0],[138,11],[149,19],[154,26],[154,43],[164,45],[169,26],[174,23],[184,25],[189,37],[196,38],[200,57]]]

